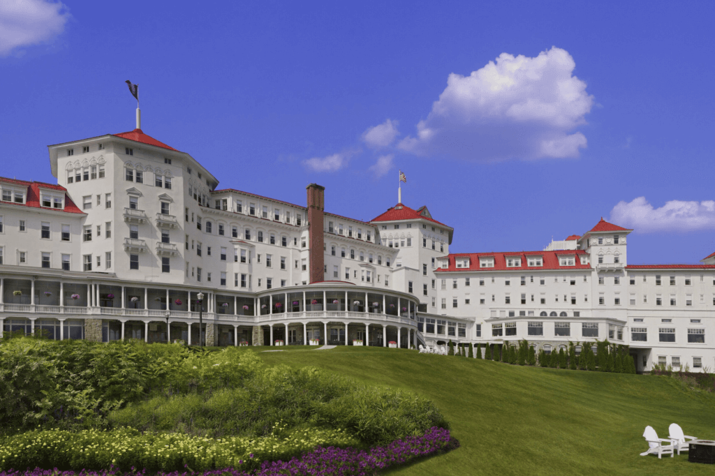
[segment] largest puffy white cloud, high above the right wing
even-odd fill
[[[573,76],[576,63],[556,47],[536,58],[502,53],[469,76],[450,74],[447,87],[415,137],[400,149],[492,162],[578,157],[593,96]]]

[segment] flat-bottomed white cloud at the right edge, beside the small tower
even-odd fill
[[[671,200],[654,208],[646,197],[618,202],[611,210],[611,222],[636,232],[693,232],[715,229],[715,201]]]

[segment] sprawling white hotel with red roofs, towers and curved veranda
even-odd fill
[[[638,372],[715,367],[715,253],[628,265],[632,230],[603,219],[542,251],[450,253],[426,207],[362,222],[316,184],[306,206],[217,189],[141,129],[49,158],[56,185],[0,178],[0,332],[166,342],[168,324],[197,344],[200,306],[209,345],[608,339]]]

